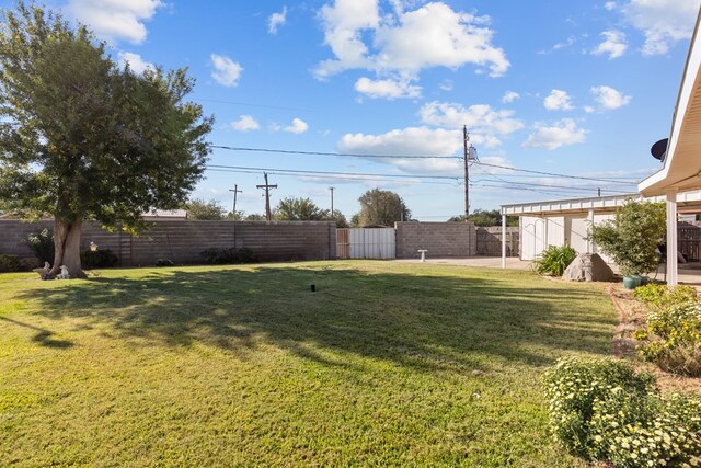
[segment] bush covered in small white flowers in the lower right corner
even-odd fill
[[[550,429],[570,452],[614,467],[701,467],[701,401],[663,398],[613,359],[560,359],[543,376]]]

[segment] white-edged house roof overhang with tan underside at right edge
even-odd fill
[[[701,35],[699,22],[679,88],[677,105],[664,167],[643,180],[637,189],[644,196],[660,195],[670,190],[701,189]]]

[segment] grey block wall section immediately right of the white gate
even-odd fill
[[[464,258],[476,254],[472,222],[395,222],[397,258],[417,259],[420,249],[429,258]]]

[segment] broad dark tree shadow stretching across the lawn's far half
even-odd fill
[[[535,276],[261,266],[96,277],[22,298],[38,300],[42,316],[82,318],[119,338],[239,355],[273,343],[347,365],[326,349],[430,372],[484,368],[495,356],[544,366],[565,352],[608,353],[614,315],[590,306],[601,295]]]

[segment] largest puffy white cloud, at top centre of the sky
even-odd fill
[[[443,2],[413,11],[404,11],[411,7],[407,2],[394,7],[382,15],[377,0],[335,0],[324,5],[320,18],[334,58],[319,64],[317,78],[367,69],[380,77],[417,79],[426,68],[468,64],[495,77],[508,69],[504,50],[492,45],[487,16],[456,12]]]

